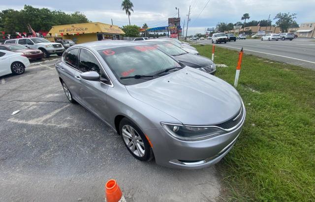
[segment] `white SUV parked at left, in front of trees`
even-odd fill
[[[41,50],[44,58],[49,58],[51,54],[63,55],[64,48],[60,43],[50,42],[47,39],[39,37],[8,39],[4,44],[17,43],[25,47]]]

